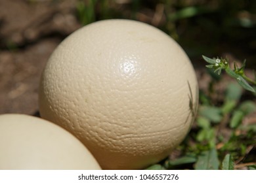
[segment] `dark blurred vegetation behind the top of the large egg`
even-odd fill
[[[77,18],[126,18],[152,24],[173,37],[190,58],[233,52],[255,66],[256,1],[89,0],[78,1]]]

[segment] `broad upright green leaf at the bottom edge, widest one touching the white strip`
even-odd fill
[[[217,170],[219,169],[219,159],[217,150],[212,148],[211,150],[203,151],[198,156],[198,161],[195,164],[196,170]]]

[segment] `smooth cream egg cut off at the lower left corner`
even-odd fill
[[[72,134],[24,114],[0,115],[0,169],[100,169]]]

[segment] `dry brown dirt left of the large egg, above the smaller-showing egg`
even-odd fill
[[[43,67],[60,41],[81,26],[74,10],[74,1],[0,0],[0,114],[37,115]]]

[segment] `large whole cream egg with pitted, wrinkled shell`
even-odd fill
[[[54,50],[39,89],[41,116],[73,133],[103,169],[142,169],[165,158],[188,133],[197,103],[181,46],[133,20],[72,33]]]

